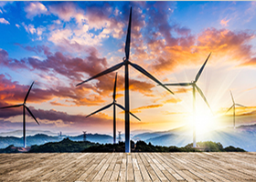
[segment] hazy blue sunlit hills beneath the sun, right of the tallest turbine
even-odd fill
[[[163,132],[145,132],[133,136],[133,140],[144,140],[146,143],[151,142],[153,145],[165,147],[182,147],[192,142],[192,130],[184,126]],[[220,142],[223,147],[241,147],[247,151],[256,151],[256,143],[253,142],[255,140],[256,124],[238,126],[236,129],[232,127],[222,128],[197,136],[197,141]]]

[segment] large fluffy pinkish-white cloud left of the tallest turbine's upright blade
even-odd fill
[[[65,50],[80,52],[80,47],[101,45],[102,40],[110,35],[114,38],[120,38],[123,35],[124,24],[110,17],[113,11],[111,8],[102,10],[100,14],[95,13],[95,9],[89,9],[84,11],[72,2],[48,5],[48,12],[59,17],[58,20],[53,21],[54,25],[50,26],[51,33],[48,40]],[[114,14],[119,15],[121,12],[115,9]],[[69,26],[59,29],[59,26],[56,26],[62,21],[69,22],[70,20],[76,21],[75,29]],[[93,34],[95,30],[100,30],[100,32]]]

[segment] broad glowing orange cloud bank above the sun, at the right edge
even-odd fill
[[[153,49],[152,54],[160,55],[155,56],[155,71],[169,74],[176,66],[201,65],[210,52],[213,53],[210,59],[214,56],[210,62],[228,56],[228,61],[237,62],[240,66],[256,64],[250,45],[254,35],[250,31],[233,32],[229,29],[208,28],[197,36],[191,36],[189,40],[184,40],[185,38],[178,39],[178,45],[164,45],[159,40],[152,43],[154,46],[149,45]],[[159,53],[160,49],[162,54]]]

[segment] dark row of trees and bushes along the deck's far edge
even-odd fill
[[[124,142],[118,144],[99,144],[90,141],[72,141],[69,137],[60,142],[48,142],[44,145],[34,145],[28,151],[29,153],[63,153],[63,152],[124,152]],[[186,147],[161,147],[154,146],[150,142],[146,144],[144,141],[131,141],[131,152],[245,152],[239,147],[223,147],[216,142],[198,142],[197,148],[193,148],[192,144]],[[17,147],[9,146],[0,149],[0,153],[16,153],[19,152]]]

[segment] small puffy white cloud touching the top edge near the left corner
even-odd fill
[[[25,12],[27,18],[32,19],[36,15],[47,14],[48,8],[39,2],[31,2],[25,7]]]

